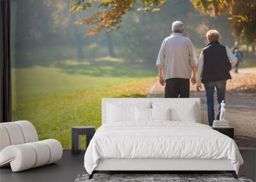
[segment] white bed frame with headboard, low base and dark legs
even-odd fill
[[[200,99],[199,98],[104,98],[102,99],[102,124],[106,123],[106,103],[108,102],[153,102],[163,100],[164,102],[192,102],[196,103],[196,123],[200,123]],[[159,159],[159,158],[109,158],[99,160],[95,170],[90,174],[100,171],[147,171],[152,173],[170,171],[226,171],[237,179],[236,171],[230,160],[211,160],[211,159]]]

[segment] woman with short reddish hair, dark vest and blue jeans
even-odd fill
[[[201,82],[204,83],[208,122],[212,126],[214,120],[214,89],[217,90],[217,117],[220,119],[220,103],[225,100],[226,82],[231,79],[230,70],[237,63],[237,58],[232,54],[227,46],[221,45],[220,34],[216,30],[209,30],[206,33],[208,44],[202,50],[198,61],[198,72],[196,90],[202,89]]]

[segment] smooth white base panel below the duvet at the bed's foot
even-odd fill
[[[234,171],[230,160],[124,159],[99,160],[94,171]]]

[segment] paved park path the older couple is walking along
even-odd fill
[[[240,69],[238,74],[232,73],[230,82],[241,81],[248,75],[256,75],[256,68]],[[164,87],[158,80],[153,84],[148,98],[163,98]],[[191,86],[191,98],[201,99],[201,121],[207,125],[207,105],[204,90],[197,92],[195,86]],[[216,100],[216,95],[215,95]],[[216,109],[216,102],[215,102]],[[239,148],[256,148],[256,93],[255,92],[226,92],[226,113],[230,125],[235,128],[236,142]]]

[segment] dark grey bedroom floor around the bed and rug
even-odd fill
[[[256,150],[240,150],[240,152],[243,156],[244,164],[241,166],[239,174],[243,174],[246,178],[255,181]],[[0,169],[0,181],[74,181],[78,174],[86,173],[83,158],[84,153],[72,155],[71,151],[64,150],[63,157],[57,163],[22,172],[12,172],[10,167],[2,168]]]

